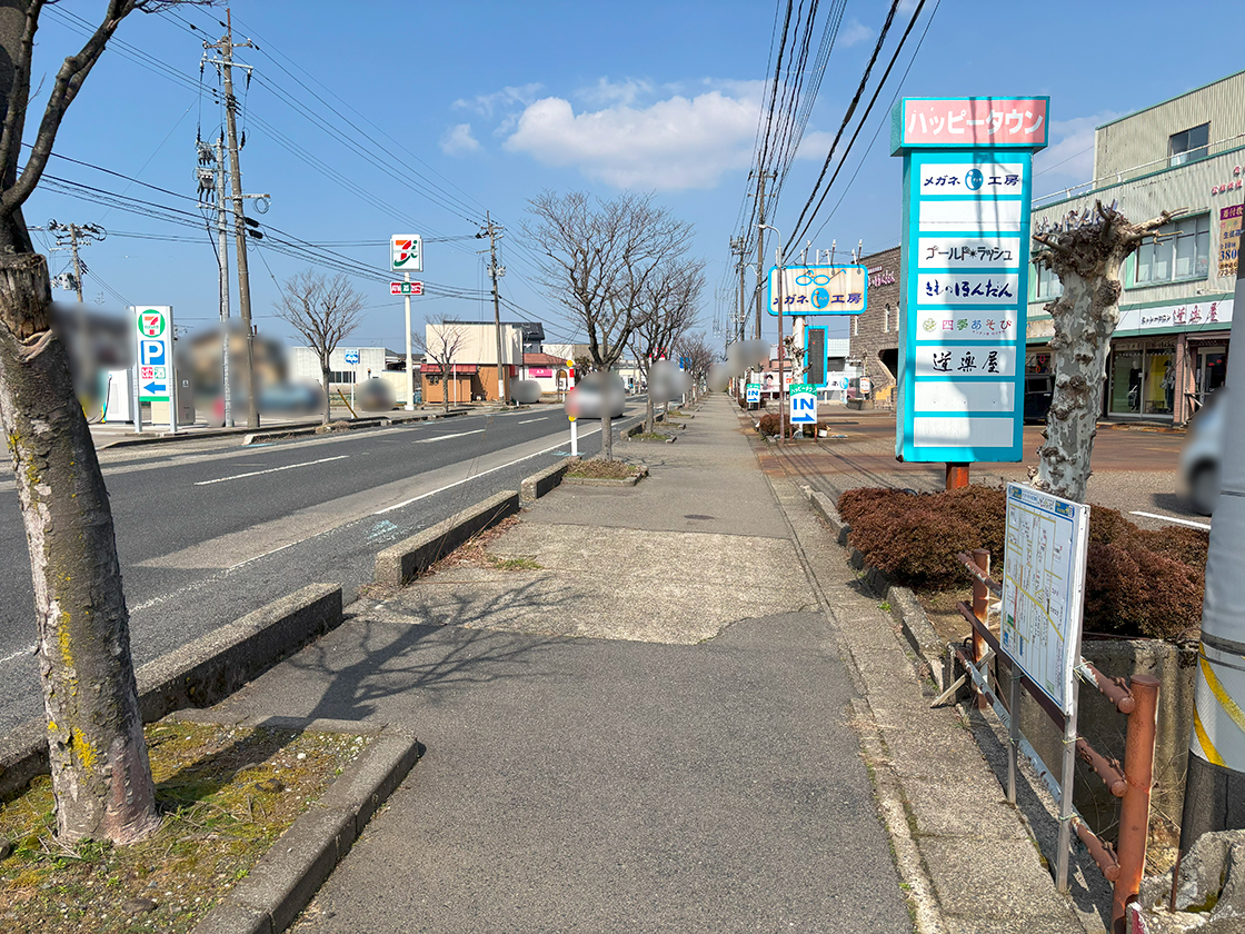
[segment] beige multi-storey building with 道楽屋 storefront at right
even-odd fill
[[[1033,229],[1111,204],[1130,220],[1184,212],[1120,270],[1120,320],[1107,362],[1103,415],[1185,423],[1224,385],[1245,202],[1245,72],[1106,123],[1094,133],[1094,181],[1035,199]],[[1026,372],[1050,372],[1061,294],[1030,276]],[[1245,352],[1245,351],[1243,351]]]

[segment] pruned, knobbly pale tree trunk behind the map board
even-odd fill
[[[1172,217],[1163,212],[1133,224],[1114,207],[1104,208],[1098,202],[1093,217],[1088,212],[1069,217],[1055,230],[1033,235],[1038,244],[1033,262],[1052,269],[1063,284],[1063,294],[1046,306],[1055,325],[1050,344],[1055,390],[1046,417],[1046,441],[1037,450],[1033,486],[1038,489],[1086,502],[1107,354],[1119,324],[1119,268],[1145,235]]]

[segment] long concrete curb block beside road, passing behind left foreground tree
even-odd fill
[[[134,674],[144,722],[186,706],[210,706],[311,640],[341,625],[341,587],[309,584],[235,623],[143,665]],[[42,719],[0,740],[0,801],[47,775]]]

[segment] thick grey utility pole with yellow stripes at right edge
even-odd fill
[[[1245,263],[1234,309],[1245,313]],[[1208,831],[1245,827],[1245,345],[1228,360],[1221,492],[1201,605],[1201,645],[1189,735],[1180,849]],[[1220,391],[1225,391],[1220,390]]]

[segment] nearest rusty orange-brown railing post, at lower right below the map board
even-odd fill
[[[1158,726],[1159,681],[1133,675],[1137,707],[1128,715],[1124,738],[1124,780],[1128,790],[1119,803],[1119,878],[1111,905],[1114,934],[1124,934],[1124,907],[1137,898],[1145,870],[1145,843],[1150,827],[1150,788],[1154,786],[1154,734]]]

